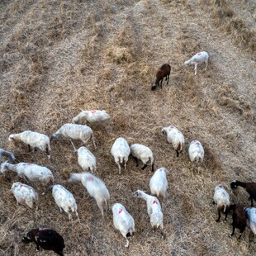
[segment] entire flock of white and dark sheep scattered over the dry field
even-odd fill
[[[197,64],[206,63],[207,67],[208,54],[206,52],[198,53],[194,55],[192,59],[189,59],[185,64],[195,64],[195,75],[197,75]],[[163,68],[163,69],[162,69]],[[164,78],[168,81],[170,74],[170,66],[164,64],[156,74],[156,81],[152,84],[151,89],[162,88]],[[167,82],[168,83],[168,82]],[[73,118],[72,123],[64,124],[59,130],[52,135],[53,140],[59,140],[60,137],[71,140],[82,140],[83,144],[86,145],[89,140],[92,140],[94,147],[96,148],[93,131],[89,126],[80,125],[78,123],[84,123],[88,121],[91,125],[96,126],[107,126],[110,116],[106,111],[94,110],[94,111],[82,111]],[[168,143],[173,145],[173,149],[178,155],[183,151],[184,148],[184,136],[180,130],[175,126],[168,126],[162,129],[162,133],[167,137]],[[21,141],[28,145],[29,149],[40,149],[45,151],[48,158],[50,159],[50,138],[47,135],[40,134],[35,131],[26,130],[19,134],[9,135],[9,140]],[[94,173],[97,170],[97,160],[95,156],[85,146],[79,149],[73,148],[78,154],[78,164],[83,168],[83,173],[71,173],[69,182],[81,182],[87,189],[88,194],[95,199],[97,206],[99,207],[102,217],[105,220],[105,211],[109,207],[110,193],[103,181]],[[139,161],[144,164],[142,169],[147,166],[151,166],[152,172],[154,172],[154,156],[153,152],[149,147],[140,144],[128,145],[126,139],[119,137],[115,140],[111,147],[111,155],[115,159],[115,162],[121,174],[121,165],[124,165],[126,169],[126,163],[129,155],[136,160],[137,166]],[[192,140],[189,145],[188,154],[191,162],[200,164],[204,159],[204,149],[201,142],[198,140]],[[3,157],[7,157],[8,161],[15,161],[15,156],[7,150],[0,149],[0,163]],[[37,164],[10,164],[4,162],[1,164],[1,173],[5,173],[7,170],[16,172],[17,175],[23,179],[26,179],[29,183],[40,184],[37,187],[38,190],[41,187],[45,188],[50,185],[52,188],[52,194],[55,199],[57,206],[60,211],[64,211],[68,214],[69,220],[72,220],[71,212],[75,212],[78,221],[78,206],[73,197],[73,194],[69,192],[65,187],[60,184],[54,185],[54,174],[49,168],[37,165]],[[168,181],[166,178],[166,172],[168,170],[164,167],[157,169],[154,175],[150,178],[149,188],[152,195],[149,195],[141,190],[137,190],[132,193],[133,197],[140,197],[146,201],[147,211],[149,214],[150,224],[153,229],[164,228],[164,198],[168,189]],[[249,219],[250,229],[256,234],[256,208],[253,207],[253,199],[256,200],[256,183],[241,183],[235,181],[231,183],[231,187],[237,186],[245,187],[249,192],[250,200],[252,202],[252,208],[244,208],[240,205],[230,205],[230,197],[225,191],[222,185],[216,186],[214,193],[214,202],[217,204],[218,219],[220,220],[220,211],[225,212],[225,219],[229,210],[234,210],[233,213],[233,233],[235,228],[240,230],[240,235],[243,233],[246,226],[246,219]],[[33,208],[34,205],[37,207],[38,194],[33,187],[30,187],[24,183],[13,183],[12,193],[17,200],[17,203],[29,206]],[[120,230],[121,235],[126,238],[126,247],[129,246],[128,237],[135,233],[135,220],[126,211],[126,207],[120,203],[115,203],[111,206],[113,215],[113,224],[116,230]],[[35,242],[36,248],[39,246],[43,249],[54,250],[56,254],[64,255],[64,239],[55,230],[48,229],[34,229],[28,232],[23,237],[24,242]],[[60,244],[60,245],[59,245]]]

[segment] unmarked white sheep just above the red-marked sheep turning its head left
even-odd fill
[[[154,172],[154,175],[150,178],[149,187],[152,195],[156,195],[163,207],[163,201],[168,188],[168,181],[166,178],[167,169],[162,167]],[[163,207],[164,208],[164,207]]]

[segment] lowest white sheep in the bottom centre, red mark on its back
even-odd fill
[[[116,230],[121,232],[121,235],[126,238],[125,247],[129,247],[128,237],[134,235],[135,233],[135,220],[130,215],[128,211],[126,211],[125,206],[120,203],[115,203],[112,206],[113,213],[113,224]]]

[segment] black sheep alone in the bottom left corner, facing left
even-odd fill
[[[52,250],[56,254],[64,256],[64,239],[55,230],[33,229],[23,236],[22,241],[26,244],[34,242],[36,244],[36,251],[39,251],[39,247],[41,247],[42,249]]]

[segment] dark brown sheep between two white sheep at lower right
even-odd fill
[[[245,230],[246,227],[246,214],[244,212],[244,206],[241,205],[230,205],[230,210],[233,210],[233,231],[232,234],[230,234],[230,237],[235,235],[235,229],[240,230],[239,238],[241,238],[242,233]]]

